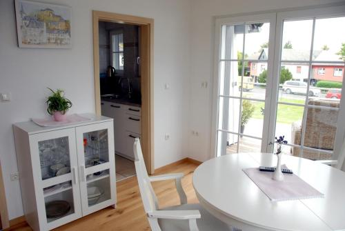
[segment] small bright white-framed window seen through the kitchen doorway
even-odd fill
[[[115,70],[124,70],[124,33],[110,32],[111,50],[110,60]]]

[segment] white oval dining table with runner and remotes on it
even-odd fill
[[[195,170],[193,186],[208,212],[244,231],[345,230],[345,172],[288,155],[284,163],[324,197],[270,201],[242,170],[277,164],[277,157],[264,153],[210,159]]]

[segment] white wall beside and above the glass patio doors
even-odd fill
[[[189,157],[205,161],[210,157],[210,131],[212,115],[213,82],[213,17],[275,9],[316,6],[341,0],[191,0],[192,12],[190,34],[190,130],[199,132],[199,137],[189,132]],[[343,0],[344,1],[344,0]],[[201,82],[208,81],[208,88]]]

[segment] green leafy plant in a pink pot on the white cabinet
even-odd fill
[[[66,112],[72,107],[72,102],[63,96],[63,90],[57,89],[53,91],[50,88],[48,89],[52,92],[52,95],[46,101],[48,106],[47,112],[54,116],[55,121],[64,121],[66,119]]]

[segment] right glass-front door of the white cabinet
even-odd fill
[[[115,148],[111,122],[76,128],[83,215],[115,205]],[[111,141],[111,142],[110,142]]]

